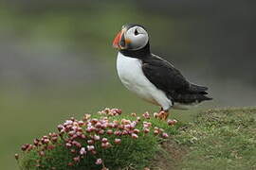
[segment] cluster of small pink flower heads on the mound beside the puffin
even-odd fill
[[[39,157],[46,157],[48,150],[54,149],[58,144],[63,144],[64,148],[72,153],[72,160],[67,162],[67,166],[75,166],[77,163],[86,159],[86,156],[91,155],[96,158],[96,165],[101,165],[102,170],[106,170],[101,154],[98,154],[101,149],[115,147],[122,144],[122,137],[127,136],[131,139],[142,138],[148,133],[153,133],[161,138],[168,138],[169,135],[163,128],[154,127],[148,120],[151,118],[148,112],[142,114],[142,119],[136,113],[132,113],[135,117],[130,119],[115,119],[113,116],[121,114],[119,109],[108,109],[99,111],[101,116],[93,116],[84,114],[82,120],[76,120],[74,117],[66,120],[64,124],[59,125],[58,133],[49,133],[40,139],[35,139],[33,144],[23,144],[21,149],[24,152],[36,150]],[[174,126],[175,120],[168,120],[167,124]],[[58,143],[63,141],[64,143]],[[15,154],[18,160],[19,155]],[[41,167],[40,161],[37,161],[36,166]],[[56,169],[56,167],[51,167]]]

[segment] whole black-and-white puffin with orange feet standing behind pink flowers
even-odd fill
[[[158,118],[166,120],[169,110],[188,110],[211,100],[208,88],[193,84],[174,65],[151,53],[144,26],[126,24],[113,41],[118,49],[117,71],[121,83],[140,98],[159,106]]]

